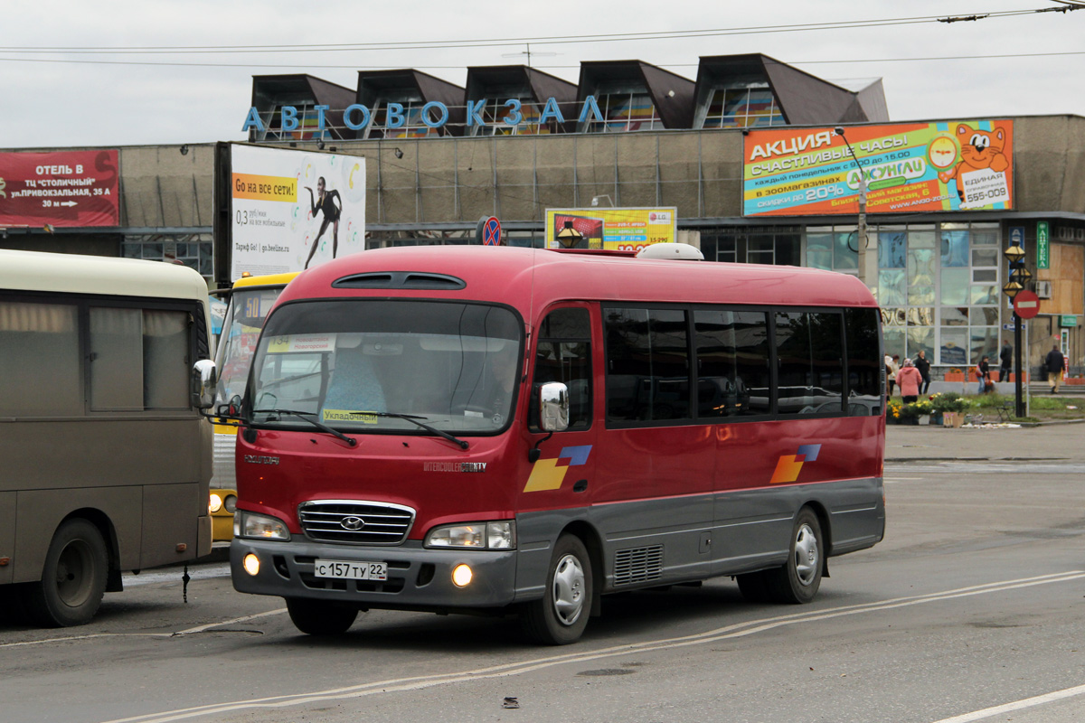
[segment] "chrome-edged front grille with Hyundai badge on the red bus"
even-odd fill
[[[315,500],[297,506],[310,540],[356,545],[398,545],[407,539],[414,511],[386,502]]]

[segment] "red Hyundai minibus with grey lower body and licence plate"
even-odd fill
[[[880,323],[856,277],[793,267],[445,246],[310,269],[232,404],[234,588],[310,634],[487,611],[548,644],[609,593],[732,576],[807,603],[884,532]]]

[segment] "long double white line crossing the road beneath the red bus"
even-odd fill
[[[1071,570],[1068,572],[1043,574],[1033,578],[1022,578],[1019,580],[990,582],[980,585],[970,585],[968,588],[958,588],[956,590],[948,590],[941,593],[928,593],[923,595],[897,597],[893,599],[880,601],[875,603],[861,603],[858,605],[851,605],[841,608],[832,608],[819,612],[797,612],[797,614],[778,616],[776,618],[768,618],[763,620],[751,620],[746,622],[739,622],[730,625],[725,625],[723,628],[717,628],[715,630],[710,630],[693,635],[685,635],[681,637],[663,638],[656,641],[646,641],[643,643],[631,643],[609,648],[602,648],[599,650],[585,650],[580,653],[569,653],[564,655],[548,656],[544,658],[536,658],[534,660],[525,660],[515,663],[505,663],[500,666],[494,666],[490,668],[481,668],[477,670],[465,671],[462,673],[400,677],[400,679],[393,679],[390,681],[378,681],[373,683],[361,683],[358,685],[352,685],[340,688],[330,688],[327,690],[314,690],[310,693],[297,693],[286,696],[254,698],[251,700],[238,700],[233,702],[224,702],[224,703],[208,703],[205,706],[197,706],[194,708],[182,708],[171,711],[162,711],[158,713],[146,713],[143,715],[133,715],[131,718],[116,719],[113,721],[106,721],[105,723],[173,723],[174,721],[189,720],[205,715],[221,715],[224,713],[240,711],[240,710],[280,709],[280,708],[288,708],[291,706],[298,706],[303,703],[327,702],[329,700],[361,698],[379,693],[399,693],[407,690],[419,690],[423,688],[436,687],[439,685],[450,685],[454,683],[474,682],[492,677],[508,677],[511,675],[522,675],[524,673],[529,673],[536,670],[551,668],[554,666],[565,664],[569,662],[583,663],[595,660],[601,660],[604,658],[626,656],[633,653],[651,653],[655,650],[687,647],[690,645],[702,645],[704,643],[715,643],[726,638],[744,637],[748,635],[753,635],[755,633],[765,632],[768,630],[774,630],[776,628],[782,628],[786,625],[792,625],[800,622],[829,620],[832,618],[860,615],[863,612],[873,612],[893,608],[909,607],[912,605],[923,605],[926,603],[937,603],[959,597],[969,597],[972,595],[984,595],[987,593],[1005,592],[1008,590],[1018,590],[1021,588],[1031,588],[1034,585],[1044,585],[1057,582],[1069,582],[1071,580],[1080,580],[1082,578],[1085,578],[1085,571]]]

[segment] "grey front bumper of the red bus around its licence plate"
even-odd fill
[[[246,570],[248,555],[259,563],[255,574]],[[387,579],[317,577],[318,559],[385,563]],[[462,586],[452,582],[452,571],[460,565],[471,568],[471,581]],[[500,608],[513,602],[516,551],[426,550],[418,541],[381,547],[234,538],[230,573],[234,590],[256,595],[336,601],[374,609]]]

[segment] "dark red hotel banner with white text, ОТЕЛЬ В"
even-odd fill
[[[118,154],[0,153],[0,227],[120,225]]]

